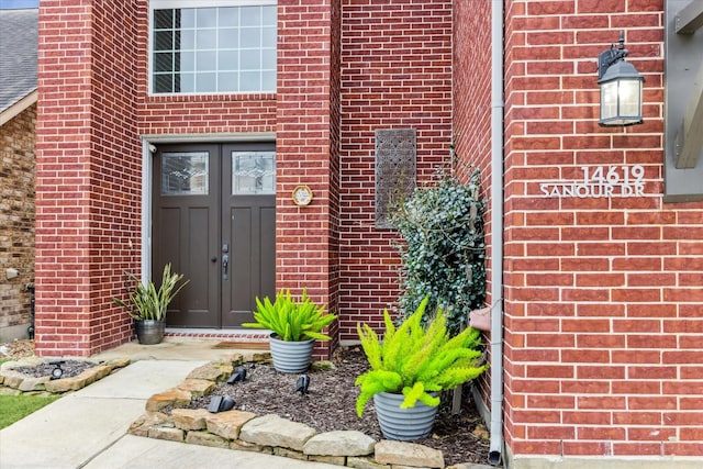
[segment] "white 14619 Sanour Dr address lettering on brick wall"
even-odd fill
[[[582,166],[583,180],[569,182],[543,182],[539,190],[546,198],[579,199],[640,197],[645,194],[645,168],[634,166]]]

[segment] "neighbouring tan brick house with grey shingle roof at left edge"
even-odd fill
[[[36,9],[0,10],[0,343],[31,332],[36,37]]]

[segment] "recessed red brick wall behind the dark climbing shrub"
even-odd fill
[[[449,163],[451,1],[343,0],[339,338],[398,300],[393,231],[375,227],[375,131],[415,129],[417,175]]]

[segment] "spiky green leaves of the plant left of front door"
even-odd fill
[[[125,286],[130,301],[126,303],[119,298],[113,298],[112,301],[124,308],[130,316],[137,321],[164,321],[169,303],[189,282],[186,280],[179,286],[178,282],[183,279],[183,275],[171,273],[170,264],[164,266],[161,284],[158,290],[154,282],[149,281],[145,286],[134,273],[125,272],[125,275],[133,283],[131,288]]]

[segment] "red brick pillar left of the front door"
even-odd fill
[[[112,297],[140,259],[137,2],[58,3],[40,9],[37,354],[80,356],[132,334]]]

